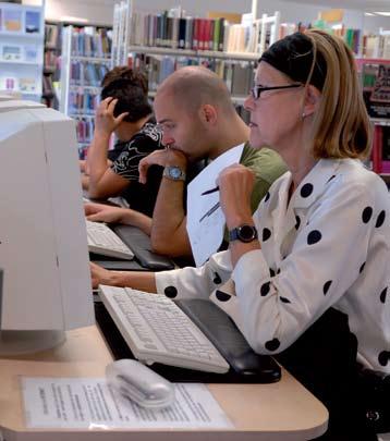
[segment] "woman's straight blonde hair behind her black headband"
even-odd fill
[[[322,95],[314,120],[313,152],[316,158],[366,158],[371,126],[363,100],[351,49],[336,36],[319,29],[305,33],[313,45],[310,84],[318,54],[325,61]]]

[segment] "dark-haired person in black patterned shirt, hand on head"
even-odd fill
[[[141,184],[138,162],[162,148],[162,135],[155,123],[147,90],[146,76],[139,71],[120,66],[106,74],[83,187],[92,198],[121,195],[132,210],[151,216],[162,170],[154,168],[150,181]],[[109,150],[112,133],[118,140]]]

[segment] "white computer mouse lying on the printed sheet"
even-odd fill
[[[108,384],[143,407],[159,408],[174,401],[174,387],[135,359],[120,359],[106,367]]]

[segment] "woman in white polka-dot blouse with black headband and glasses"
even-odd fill
[[[209,297],[254,351],[273,355],[328,407],[321,439],[376,440],[378,418],[390,427],[389,393],[380,412],[371,399],[388,383],[378,380],[368,397],[359,365],[390,378],[390,198],[362,163],[371,126],[351,49],[321,30],[277,41],[245,107],[251,145],[270,146],[289,171],[255,215],[253,173],[241,164],[221,172],[229,249],[202,268],[160,273],[92,266],[93,284]],[[221,289],[229,279],[231,293]]]

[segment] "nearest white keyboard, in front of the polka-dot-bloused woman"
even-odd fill
[[[100,285],[100,298],[139,360],[217,373],[229,370],[212,343],[164,295]]]

